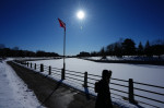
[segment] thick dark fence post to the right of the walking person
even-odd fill
[[[133,80],[129,79],[129,103],[134,104],[134,97],[133,97]]]

